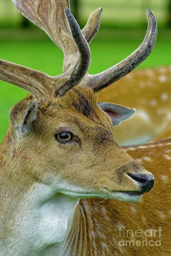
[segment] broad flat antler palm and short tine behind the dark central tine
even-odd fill
[[[63,72],[72,68],[77,61],[78,53],[64,15],[65,7],[69,7],[69,0],[12,0],[12,2],[19,12],[43,29],[63,51]],[[91,13],[82,30],[88,43],[99,29],[101,12],[102,9],[98,8]]]

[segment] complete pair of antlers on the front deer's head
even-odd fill
[[[67,0],[12,0],[12,2],[19,12],[42,28],[64,53],[65,73],[59,76],[48,76],[43,72],[0,60],[1,80],[26,89],[41,100],[62,96],[80,82],[84,86],[92,87],[94,92],[102,90],[145,60],[156,41],[157,23],[153,13],[148,9],[147,33],[137,50],[112,68],[96,75],[88,75],[90,64],[88,43],[99,29],[101,8],[90,14],[81,32],[68,8]]]

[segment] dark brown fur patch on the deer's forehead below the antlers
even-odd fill
[[[93,110],[92,106],[90,105],[89,101],[76,89],[74,89],[74,91],[78,95],[78,101],[73,101],[72,105],[82,115],[84,115],[86,117],[94,116],[94,110]]]

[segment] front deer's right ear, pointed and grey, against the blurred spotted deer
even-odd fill
[[[127,108],[107,102],[99,102],[98,106],[112,118],[113,126],[131,118],[131,116],[136,112],[135,108]]]

